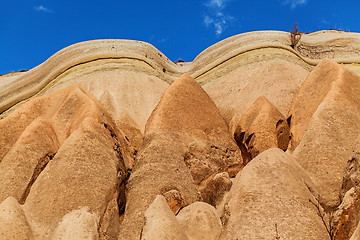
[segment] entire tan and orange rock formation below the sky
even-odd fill
[[[0,76],[0,238],[358,239],[360,34],[290,39],[88,41]]]

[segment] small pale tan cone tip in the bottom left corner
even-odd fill
[[[0,239],[34,239],[23,209],[13,197],[8,197],[0,204]]]

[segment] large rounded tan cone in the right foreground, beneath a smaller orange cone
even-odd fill
[[[266,150],[236,176],[221,239],[328,239],[309,189],[316,194],[288,153]]]

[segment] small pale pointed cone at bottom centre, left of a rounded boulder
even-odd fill
[[[141,240],[188,240],[183,228],[169,208],[166,199],[157,195],[154,202],[145,212],[145,225]]]

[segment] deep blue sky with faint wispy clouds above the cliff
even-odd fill
[[[360,32],[359,0],[0,0],[0,74],[33,68],[71,44],[104,38],[153,44],[192,61],[257,30]]]

